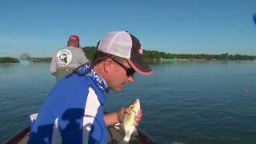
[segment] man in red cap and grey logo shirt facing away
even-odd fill
[[[58,80],[86,62],[88,59],[79,44],[78,36],[71,35],[67,46],[55,51],[50,64],[50,73]]]

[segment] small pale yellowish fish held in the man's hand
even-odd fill
[[[138,110],[140,109],[140,102],[138,98],[135,98],[133,102],[131,102],[128,107],[132,112],[131,114],[125,114],[122,122],[123,129],[125,131],[125,137],[123,138],[124,143],[128,143],[130,141],[130,135],[134,132],[137,132],[136,127],[134,126],[135,117],[138,114]]]

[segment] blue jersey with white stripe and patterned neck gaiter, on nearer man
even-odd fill
[[[90,66],[78,70],[84,73]],[[31,123],[28,143],[106,143],[103,104],[109,88],[94,70],[59,80]]]

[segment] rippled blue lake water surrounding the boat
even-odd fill
[[[0,143],[29,124],[28,116],[56,82],[50,63],[0,64]],[[139,98],[139,127],[158,143],[256,143],[256,61],[169,62],[135,74],[106,110]],[[248,93],[245,92],[248,90]]]

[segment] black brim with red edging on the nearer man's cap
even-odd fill
[[[134,70],[138,72],[138,74],[142,74],[142,75],[153,74],[153,70],[151,70],[150,67],[147,66],[146,63],[143,62],[142,60],[136,61],[136,60],[128,59],[127,61],[130,63],[130,66],[132,66]]]

